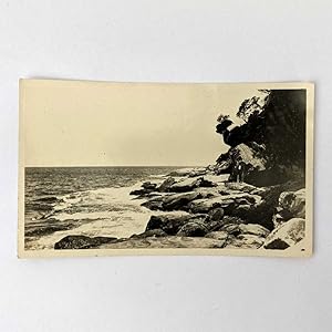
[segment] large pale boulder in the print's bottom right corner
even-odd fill
[[[266,249],[287,249],[300,242],[305,236],[305,219],[292,218],[281,224],[266,239]]]

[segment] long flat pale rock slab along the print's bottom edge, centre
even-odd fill
[[[212,238],[203,237],[148,237],[144,239],[126,239],[117,241],[114,243],[107,243],[100,246],[101,249],[132,249],[132,248],[200,248],[200,249],[211,249],[211,248],[222,248],[224,241],[216,240]]]

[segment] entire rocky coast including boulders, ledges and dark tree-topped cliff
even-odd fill
[[[261,91],[235,125],[216,125],[228,151],[215,165],[180,169],[131,194],[154,214],[128,239],[69,236],[55,249],[242,248],[284,250],[304,238],[305,91]]]

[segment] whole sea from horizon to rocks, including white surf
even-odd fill
[[[68,235],[129,237],[151,211],[131,196],[143,180],[179,167],[27,167],[25,249],[52,249]]]

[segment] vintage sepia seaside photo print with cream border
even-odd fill
[[[21,80],[19,168],[19,257],[307,257],[313,84]]]

